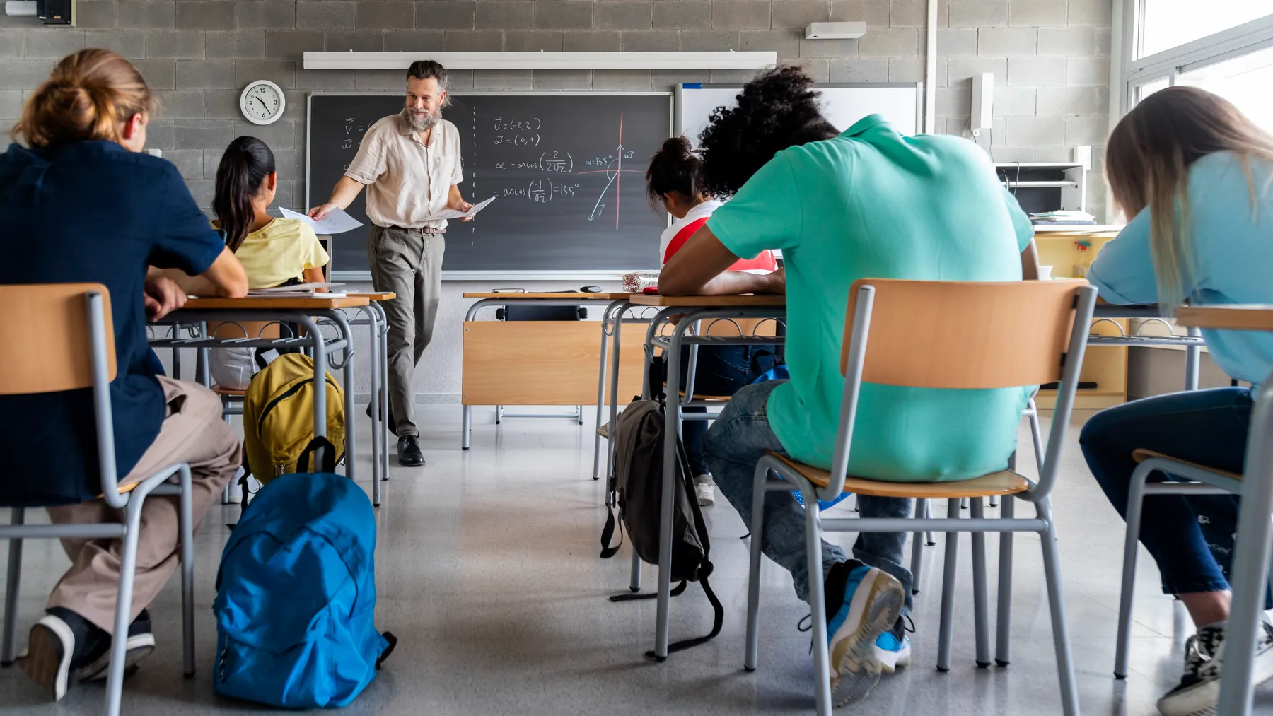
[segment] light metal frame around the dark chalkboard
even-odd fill
[[[448,93],[454,97],[666,97],[668,98],[668,112],[667,112],[667,136],[672,136],[672,127],[676,123],[676,95],[675,92],[668,90],[635,90],[635,92],[621,92],[621,90],[517,90],[517,92],[498,92],[498,90],[456,90]],[[311,92],[306,94],[306,209],[314,206],[309,189],[312,182],[309,181],[311,169],[311,117],[313,117],[313,98],[317,95],[323,97],[392,97],[404,95],[402,92]],[[330,191],[330,189],[328,189]],[[671,217],[668,217],[671,223]],[[355,229],[355,231],[359,229]],[[335,262],[332,262],[335,263]],[[658,266],[638,266],[624,270],[605,270],[605,271],[443,271],[443,281],[620,281],[624,275],[631,273],[633,271],[657,271]],[[331,270],[332,280],[339,281],[370,281],[370,271],[341,271],[339,267],[332,266]]]

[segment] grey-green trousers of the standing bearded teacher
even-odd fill
[[[367,251],[372,284],[397,298],[382,306],[390,322],[390,417],[398,437],[420,435],[415,426],[415,366],[429,341],[442,298],[442,234],[372,225]]]

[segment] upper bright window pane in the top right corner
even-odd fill
[[[1137,57],[1179,47],[1273,11],[1269,0],[1141,0],[1141,8]]]

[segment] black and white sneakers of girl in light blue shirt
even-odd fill
[[[1180,685],[1158,699],[1164,716],[1208,716],[1220,702],[1220,675],[1225,665],[1225,630],[1202,627],[1185,642],[1185,674]],[[1255,644],[1254,683],[1273,678],[1273,626],[1260,624]]]

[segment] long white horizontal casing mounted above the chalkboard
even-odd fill
[[[840,23],[844,24],[844,23]],[[854,23],[849,23],[854,24]],[[864,23],[857,23],[863,24]],[[306,70],[406,70],[416,60],[448,70],[760,70],[777,52],[306,52]]]

